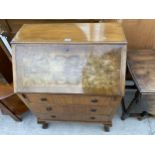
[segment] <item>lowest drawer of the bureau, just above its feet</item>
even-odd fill
[[[46,121],[86,121],[86,122],[109,122],[111,117],[108,115],[49,115],[49,114],[36,114],[39,120]]]

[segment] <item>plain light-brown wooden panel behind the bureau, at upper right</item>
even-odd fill
[[[123,19],[122,26],[128,41],[128,49],[155,48],[155,19]]]

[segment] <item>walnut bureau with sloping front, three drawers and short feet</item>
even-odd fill
[[[119,23],[26,24],[12,40],[14,91],[43,128],[101,122],[124,96],[127,42]]]

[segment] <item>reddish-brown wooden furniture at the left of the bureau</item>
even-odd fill
[[[0,42],[0,109],[3,114],[21,121],[22,114],[28,111],[26,105],[13,91],[11,56]]]

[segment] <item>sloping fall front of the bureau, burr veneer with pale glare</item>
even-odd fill
[[[122,95],[126,45],[17,44],[15,92]]]

